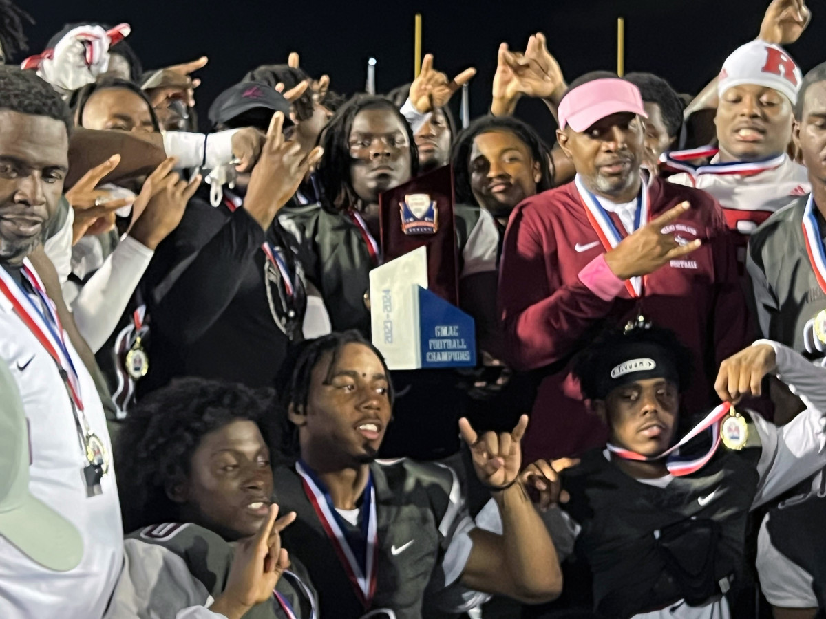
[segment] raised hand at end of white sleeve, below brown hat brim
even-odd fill
[[[143,208],[143,201],[146,201],[146,206],[137,215],[129,235],[150,249],[157,248],[178,227],[187,202],[201,184],[200,174],[186,181],[178,172],[173,172],[176,161],[176,158],[169,157],[155,168],[135,200],[135,203],[140,204],[139,208]]]

